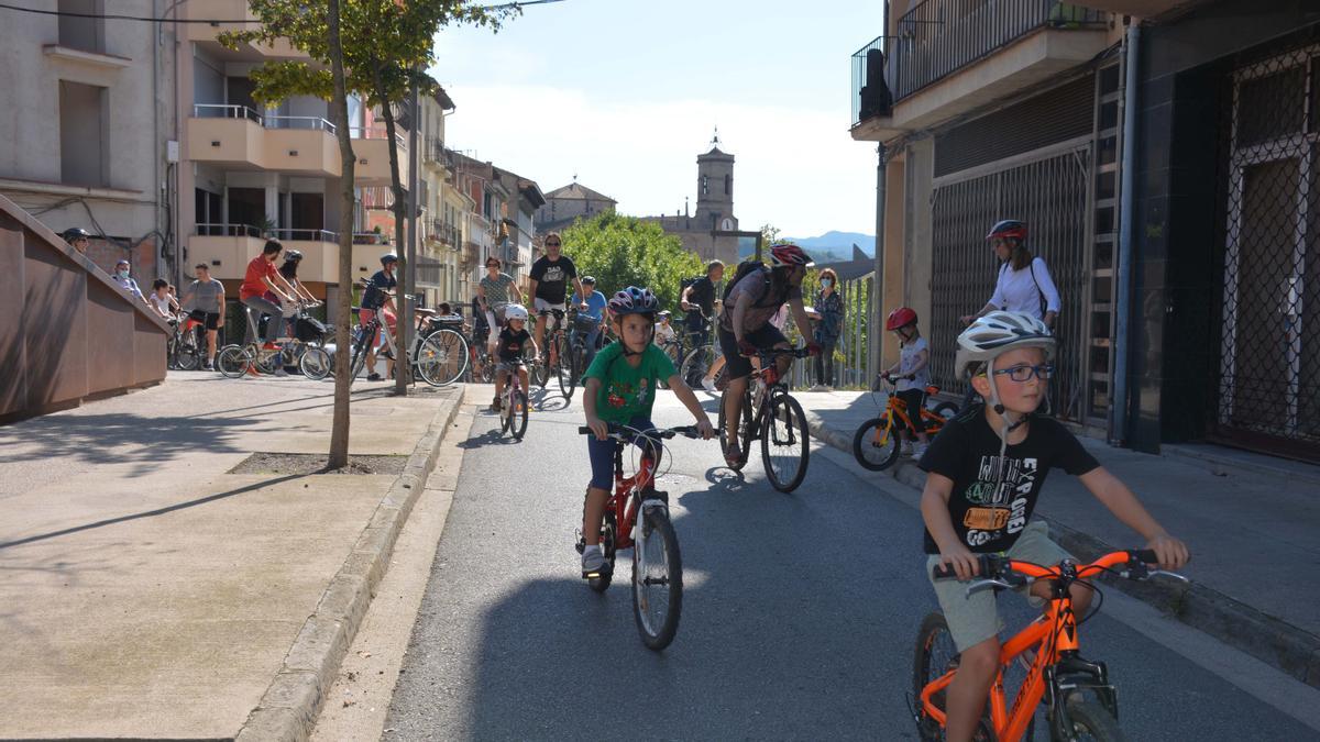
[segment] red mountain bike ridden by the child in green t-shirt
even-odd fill
[[[587,426],[578,428],[583,436],[594,436]],[[605,506],[601,525],[601,549],[605,566],[587,574],[587,584],[603,593],[614,577],[614,558],[620,549],[632,549],[632,617],[638,623],[642,643],[660,651],[673,642],[682,613],[682,555],[678,536],[669,520],[669,494],[655,489],[659,452],[664,440],[675,436],[700,438],[694,425],[638,430],[627,425],[610,424],[614,448],[614,494]],[[632,477],[623,475],[623,448],[642,438],[642,457]],[[582,553],[585,541],[578,537],[577,551]]]

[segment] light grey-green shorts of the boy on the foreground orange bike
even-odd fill
[[[1073,558],[1063,547],[1049,540],[1049,527],[1044,520],[1032,520],[1022,529],[1022,536],[1014,541],[1007,552],[1008,558],[1030,561],[1043,566],[1053,566],[1065,558]],[[929,555],[925,560],[925,577],[935,586],[935,597],[940,601],[940,610],[944,619],[949,622],[949,635],[960,652],[997,636],[1003,630],[1003,619],[999,618],[999,607],[995,605],[993,590],[983,590],[968,595],[968,584],[957,580],[935,580],[931,573],[935,565],[940,564],[939,555]],[[1044,605],[1044,601],[1028,594],[1030,586],[1015,588],[1027,598],[1032,607]]]

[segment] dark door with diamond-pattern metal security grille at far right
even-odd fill
[[[1320,455],[1320,46],[1228,75],[1216,433]],[[1272,441],[1272,444],[1271,444]],[[1283,449],[1276,448],[1287,441]]]

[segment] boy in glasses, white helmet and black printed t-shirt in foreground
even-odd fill
[[[970,378],[985,405],[962,411],[940,430],[920,467],[925,522],[925,573],[950,565],[960,581],[977,574],[977,553],[1055,565],[1071,558],[1049,540],[1048,528],[1032,522],[1040,487],[1051,467],[1078,477],[1110,512],[1147,540],[1164,569],[1187,562],[1187,547],[1170,536],[1137,496],[1086,453],[1067,428],[1034,417],[1045,397],[1053,367],[1055,339],[1028,314],[993,312],[958,335],[956,371]],[[958,673],[946,694],[946,739],[972,739],[999,663],[999,623],[990,591],[966,594],[953,580],[932,580],[949,634],[961,652]],[[1030,588],[1028,601],[1049,597],[1048,581]],[[1073,584],[1077,615],[1085,615],[1092,591]]]

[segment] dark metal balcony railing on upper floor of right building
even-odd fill
[[[1036,29],[1096,29],[1107,17],[1105,11],[1057,0],[925,0],[899,18],[892,46],[879,37],[853,54],[853,124],[887,114],[862,111],[873,50],[887,54],[883,77],[894,100],[902,100]]]

